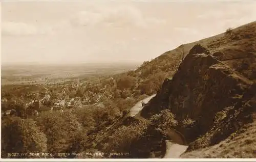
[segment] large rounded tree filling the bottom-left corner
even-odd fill
[[[2,151],[4,153],[46,152],[46,150],[46,135],[38,129],[34,120],[12,117],[3,121]],[[28,154],[24,157],[28,157]]]

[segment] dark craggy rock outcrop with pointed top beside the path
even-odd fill
[[[251,80],[197,44],[191,48],[173,78],[164,80],[157,95],[142,110],[141,116],[149,118],[169,109],[178,121],[186,118],[195,120],[189,129],[177,128],[190,143],[215,125],[218,112],[228,110],[230,113],[251,85]],[[217,138],[211,143],[220,140]]]

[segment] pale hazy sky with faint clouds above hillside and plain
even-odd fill
[[[256,1],[2,3],[2,63],[143,62],[256,20]]]

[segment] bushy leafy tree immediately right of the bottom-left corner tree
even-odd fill
[[[69,112],[44,112],[36,118],[37,124],[47,136],[48,151],[56,154],[58,152],[74,152],[71,150],[73,141],[83,131],[76,117]]]

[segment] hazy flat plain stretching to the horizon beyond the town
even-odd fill
[[[54,84],[88,76],[109,75],[137,68],[136,63],[69,64],[69,65],[4,65],[2,86]]]

